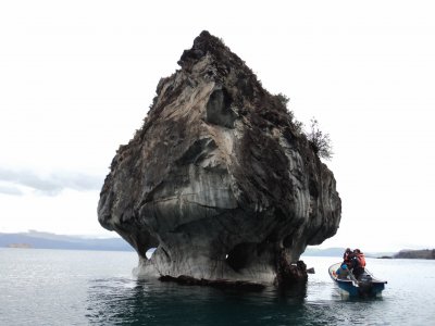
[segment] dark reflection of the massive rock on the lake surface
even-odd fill
[[[135,279],[96,279],[87,315],[94,325],[276,325],[303,313],[307,286],[262,292]],[[286,318],[285,318],[286,319]]]

